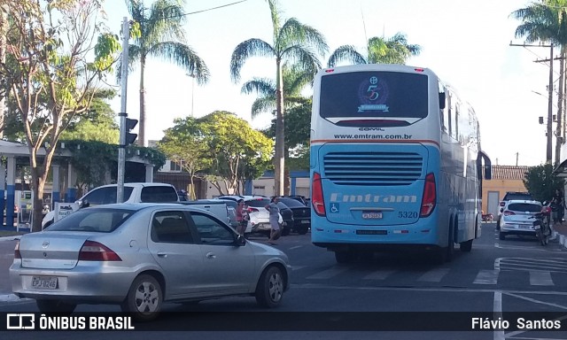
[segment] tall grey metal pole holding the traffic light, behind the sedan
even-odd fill
[[[128,43],[130,40],[130,24],[128,18],[122,21],[122,60],[120,73],[120,138],[118,146],[118,178],[116,203],[124,202],[124,173],[126,168],[126,95],[128,94]]]

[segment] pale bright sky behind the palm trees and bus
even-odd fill
[[[188,0],[185,29],[190,47],[209,68],[210,81],[193,83],[178,66],[151,58],[146,66],[146,139],[159,140],[175,118],[201,117],[222,110],[235,112],[252,128],[266,128],[270,113],[252,120],[254,95],[241,93],[252,77],[274,78],[271,58],[249,58],[241,81],[230,79],[229,63],[237,44],[251,38],[272,43],[272,26],[266,0]],[[521,22],[510,13],[532,2],[525,0],[279,0],[283,18],[297,18],[315,27],[327,39],[329,53],[344,44],[364,51],[373,36],[392,37],[400,32],[408,43],[422,47],[408,65],[428,67],[451,84],[462,100],[470,102],[480,122],[481,146],[493,165],[537,166],[546,158],[549,58],[546,47],[517,47]],[[151,0],[144,0],[149,6]],[[219,9],[199,12],[231,4]],[[128,17],[124,0],[107,0],[108,26],[116,34]],[[558,53],[555,53],[555,56]],[[557,86],[559,64],[555,62]],[[128,74],[128,118],[139,118],[139,67]],[[556,93],[554,94],[556,103]],[[113,101],[120,112],[120,98]],[[554,104],[556,111],[556,104]],[[554,112],[555,114],[555,112]],[[555,131],[555,124],[554,124]],[[554,137],[555,148],[555,137]],[[555,149],[554,153],[555,155]],[[555,157],[555,156],[554,156]]]

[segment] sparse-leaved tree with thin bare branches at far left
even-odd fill
[[[3,0],[0,7],[9,18],[0,34],[10,59],[0,65],[0,75],[11,84],[25,128],[35,197],[33,231],[41,229],[43,187],[60,135],[75,116],[89,110],[120,50],[118,38],[103,30],[97,16],[101,3]]]

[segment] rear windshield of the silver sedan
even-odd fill
[[[120,227],[133,213],[124,209],[85,208],[58,220],[45,230],[48,231],[94,231],[110,233]]]

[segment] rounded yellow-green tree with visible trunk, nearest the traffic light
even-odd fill
[[[197,199],[194,179],[205,178],[204,175],[199,175],[199,172],[213,166],[214,155],[200,131],[198,120],[187,117],[174,120],[174,124],[173,128],[167,128],[165,131],[165,136],[158,143],[158,149],[190,175],[189,196],[190,199]]]

